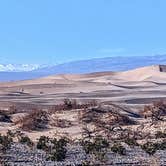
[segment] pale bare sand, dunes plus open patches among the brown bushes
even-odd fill
[[[55,105],[64,98],[77,99],[80,102],[95,99],[104,105],[117,104],[125,114],[137,113],[145,104],[166,100],[166,66],[149,66],[124,72],[53,75],[34,80],[0,83],[1,109],[6,108],[10,102],[22,103],[22,108],[25,109],[26,103],[43,107]],[[32,140],[40,135],[54,136],[56,133],[68,133],[77,137],[82,127],[77,114],[78,112],[71,111],[59,114],[62,119],[72,121],[72,127],[54,127],[27,134]],[[15,114],[12,119],[17,121],[23,116],[24,113]],[[16,128],[17,126],[12,124],[1,123],[0,133]]]

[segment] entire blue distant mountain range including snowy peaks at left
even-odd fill
[[[46,67],[39,65],[22,65],[22,69],[16,67],[15,69],[12,68],[12,70],[11,68],[9,70],[7,65],[6,70],[3,66],[3,72],[0,72],[0,81],[32,79],[65,73],[76,74],[100,71],[123,71],[156,64],[166,64],[166,55],[95,58]]]

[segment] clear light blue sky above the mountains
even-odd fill
[[[0,63],[166,53],[165,0],[0,0]]]

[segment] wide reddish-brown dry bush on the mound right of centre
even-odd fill
[[[79,120],[84,126],[93,126],[95,128],[95,133],[102,134],[108,139],[113,139],[113,137],[121,139],[121,135],[124,133],[121,126],[136,124],[134,120],[126,115],[107,109],[105,110],[101,107],[84,109],[79,114]],[[84,129],[84,133],[85,131],[86,130]],[[86,131],[86,135],[88,135],[88,131]]]

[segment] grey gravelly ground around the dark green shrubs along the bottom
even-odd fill
[[[142,149],[135,147],[130,148],[126,145],[126,155],[118,155],[108,152],[108,161],[104,165],[166,165],[166,151],[157,151],[154,156],[150,156]],[[29,149],[29,147],[14,143],[6,154],[1,154],[2,161],[11,166],[69,166],[81,165],[87,159],[85,152],[80,146],[68,147],[66,159],[63,162],[53,162],[46,160],[46,153],[37,149]]]

